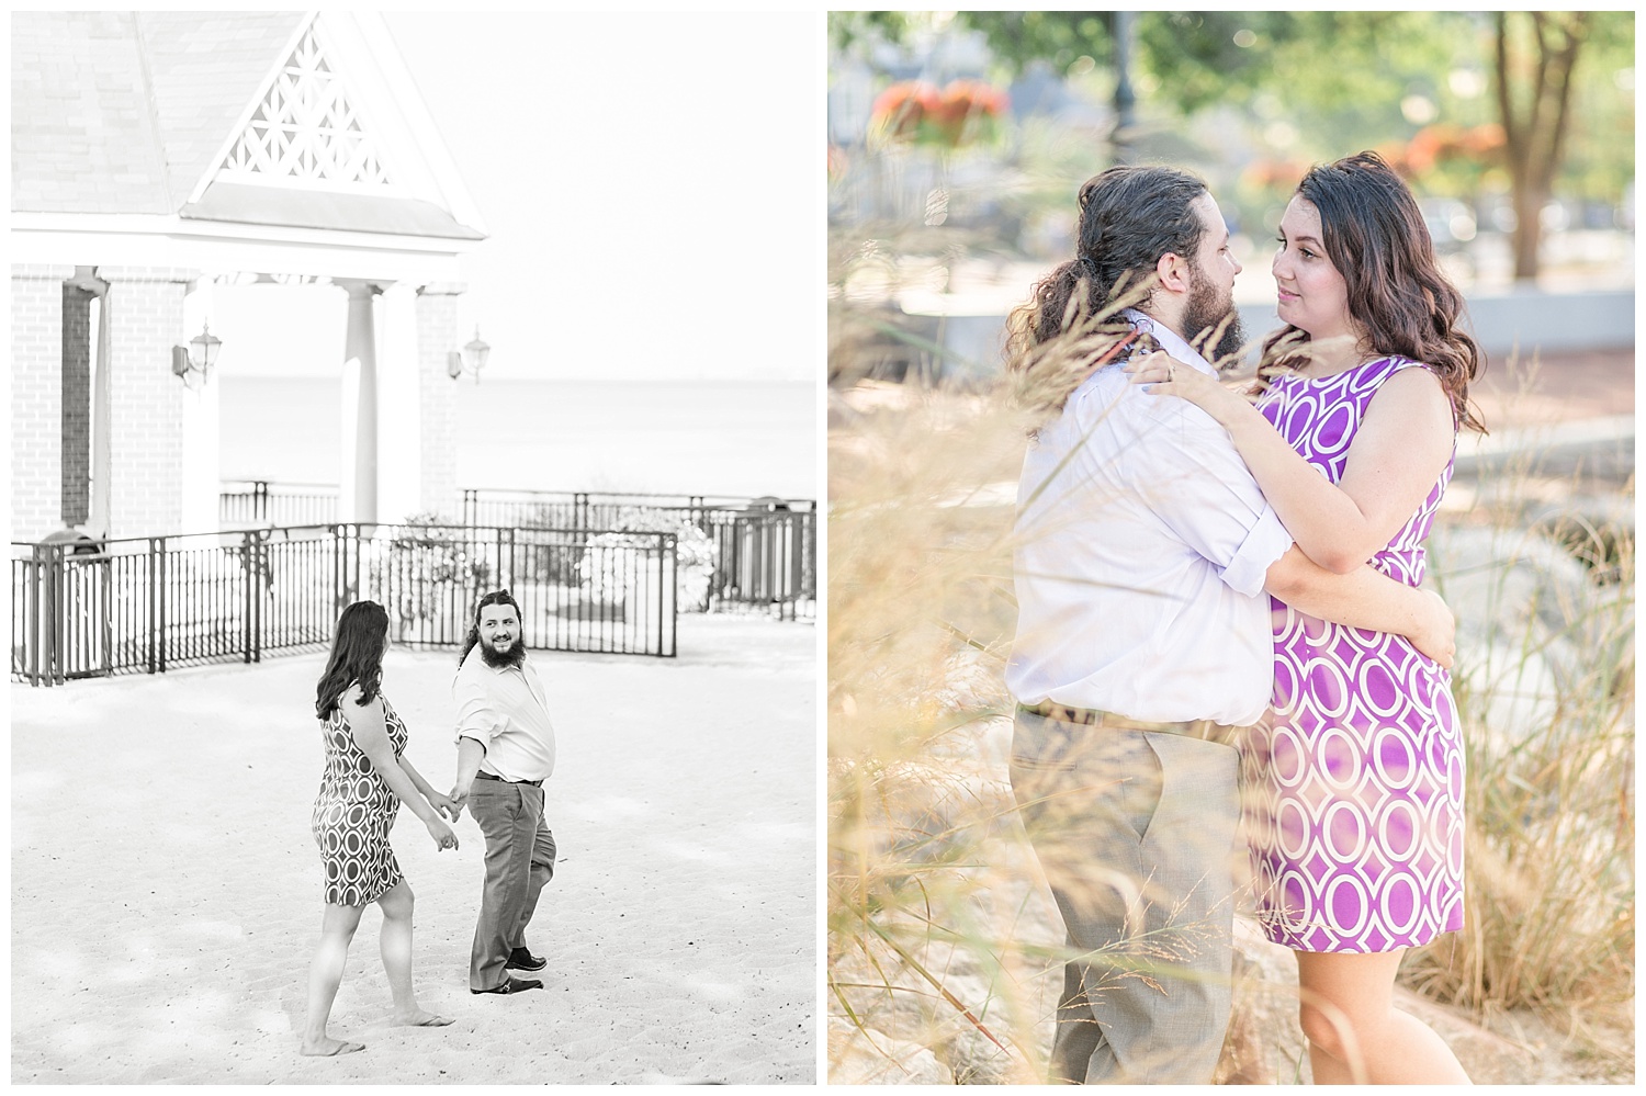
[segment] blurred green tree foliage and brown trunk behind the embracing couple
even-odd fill
[[[1116,64],[1113,12],[960,12],[956,23],[983,31],[1009,71],[1034,61],[1062,74]],[[1508,173],[1519,280],[1537,275],[1541,211],[1562,178],[1579,120],[1595,120],[1597,110],[1574,110],[1585,97],[1579,59],[1608,54],[1590,81],[1588,100],[1628,99],[1620,92],[1633,89],[1611,86],[1616,72],[1633,74],[1633,12],[1144,12],[1136,26],[1146,94],[1185,114],[1218,104],[1248,107],[1304,135],[1330,135],[1327,155],[1371,146],[1404,161],[1406,138],[1439,117],[1442,104],[1458,125],[1486,122],[1483,104],[1467,102],[1467,87],[1472,72],[1490,67],[1491,120],[1503,140],[1476,137],[1455,146],[1493,158]],[[887,23],[877,30],[897,33]],[[1620,114],[1633,130],[1628,107],[1600,107],[1598,114],[1606,115],[1608,130]],[[1304,143],[1318,148],[1325,142]],[[1618,188],[1633,179],[1633,142],[1585,151],[1582,171],[1598,170]],[[1621,166],[1611,163],[1620,158]],[[1455,170],[1452,178],[1458,178]]]

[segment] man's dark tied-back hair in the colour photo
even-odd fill
[[[1177,168],[1118,166],[1086,179],[1075,257],[1007,316],[1007,362],[1021,367],[1029,349],[1108,308],[1123,280],[1141,285],[1167,252],[1193,263],[1207,230],[1193,204],[1205,193],[1203,181]]]

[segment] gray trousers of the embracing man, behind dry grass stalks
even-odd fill
[[[1019,711],[1011,775],[1072,956],[1049,1080],[1210,1083],[1233,982],[1234,747]]]

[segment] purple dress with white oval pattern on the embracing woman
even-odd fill
[[[1258,402],[1332,482],[1378,387],[1422,364],[1383,357],[1282,375]],[[1457,448],[1453,443],[1453,457]],[[1417,586],[1452,461],[1389,546]],[[1295,951],[1393,951],[1463,926],[1463,742],[1450,675],[1399,635],[1274,607],[1274,698],[1241,744],[1258,917]]]

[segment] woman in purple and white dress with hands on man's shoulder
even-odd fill
[[[1256,408],[1192,369],[1134,380],[1228,428],[1315,563],[1369,561],[1409,586],[1452,477],[1481,430],[1483,362],[1458,329],[1407,186],[1374,153],[1314,168],[1281,221],[1286,327],[1264,344]],[[1167,383],[1159,383],[1167,382]],[[1463,744],[1450,676],[1397,635],[1274,602],[1274,698],[1241,744],[1258,915],[1297,954],[1317,1084],[1468,1083],[1427,1025],[1394,1009],[1406,948],[1463,926]]]

